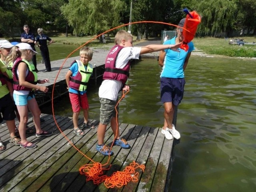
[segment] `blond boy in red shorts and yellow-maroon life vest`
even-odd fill
[[[83,127],[95,128],[93,123],[88,122],[89,104],[86,94],[87,84],[93,71],[93,66],[89,64],[89,61],[92,60],[92,54],[90,48],[82,48],[80,50],[80,60],[72,62],[66,74],[66,83],[73,110],[73,132],[78,136],[85,135],[82,129],[78,128],[78,115],[81,108],[84,113]]]

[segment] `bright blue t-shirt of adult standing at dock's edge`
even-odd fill
[[[164,45],[175,44],[175,38],[172,38],[166,42]],[[161,72],[160,77],[167,78],[184,78],[184,62],[188,55],[188,53],[192,52],[194,48],[193,42],[188,43],[188,51],[184,51],[181,48],[178,48],[180,52],[173,51],[171,49],[164,50],[166,52],[166,56],[164,59],[164,66]]]

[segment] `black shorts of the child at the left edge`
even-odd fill
[[[4,97],[0,98],[0,113],[0,123],[3,120],[14,120],[16,117],[16,114],[14,112],[14,104],[9,93]]]

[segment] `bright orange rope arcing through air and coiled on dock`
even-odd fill
[[[56,78],[54,80],[54,84],[52,87],[52,114],[53,114],[53,118],[54,118],[54,122],[56,124],[56,126],[58,127],[58,129],[60,130],[60,133],[66,138],[66,140],[68,140],[68,142],[78,151],[80,152],[83,156],[85,156],[87,159],[89,159],[91,162],[93,162],[93,164],[86,164],[82,167],[80,167],[79,172],[80,174],[84,174],[86,176],[86,181],[92,180],[94,184],[100,184],[102,182],[104,182],[105,186],[107,188],[114,188],[116,187],[122,187],[124,185],[126,185],[128,182],[133,181],[133,182],[137,182],[138,181],[138,172],[135,172],[136,169],[141,168],[142,171],[144,172],[145,166],[143,164],[139,165],[137,164],[135,161],[133,163],[131,163],[129,166],[127,166],[126,168],[124,168],[124,171],[120,172],[114,172],[112,174],[112,176],[106,176],[106,175],[102,175],[104,170],[109,170],[111,165],[108,168],[103,168],[102,166],[105,166],[108,164],[109,160],[110,160],[110,156],[108,156],[108,161],[106,164],[102,165],[98,162],[94,162],[94,160],[92,160],[91,158],[89,158],[88,156],[86,156],[82,151],[80,151],[69,139],[68,137],[62,132],[62,130],[60,129],[60,127],[58,126],[58,123],[56,121],[55,118],[55,114],[54,114],[54,104],[53,104],[53,98],[54,98],[54,88],[55,88],[55,84],[57,81],[57,78],[60,74],[60,71],[62,69],[62,67],[64,66],[64,64],[66,63],[66,60],[77,50],[79,50],[80,48],[82,48],[83,46],[85,46],[86,44],[90,43],[92,40],[98,38],[99,36],[101,36],[104,33],[108,33],[112,30],[115,30],[117,28],[121,28],[123,26],[127,26],[129,24],[138,24],[138,23],[155,23],[155,24],[165,24],[165,25],[170,25],[170,26],[175,26],[178,28],[182,28],[180,26],[174,25],[174,24],[170,24],[170,23],[165,23],[165,22],[158,22],[158,21],[138,21],[138,22],[132,22],[132,23],[128,23],[128,24],[122,24],[120,26],[114,27],[110,30],[107,30],[101,34],[99,34],[98,36],[92,38],[91,40],[89,40],[88,42],[86,42],[85,44],[81,45],[80,47],[76,48],[74,51],[72,51],[63,61],[62,65],[60,66],[60,69],[56,75]],[[184,30],[186,30],[185,28],[183,28]],[[188,31],[188,30],[186,30]],[[189,31],[188,31],[189,32]],[[129,91],[128,91],[129,92]],[[118,112],[117,112],[117,106],[119,104],[119,102],[125,97],[125,95],[128,92],[122,92],[122,96],[120,98],[120,100],[118,100],[115,110],[116,110],[116,134],[115,134],[115,138],[116,139],[116,135],[117,135],[117,131],[119,130],[119,124],[118,124]],[[112,142],[112,145],[110,147],[110,150],[112,149],[112,146],[114,144],[114,140]]]

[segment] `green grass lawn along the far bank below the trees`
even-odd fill
[[[96,48],[106,48],[114,45],[114,36],[110,35],[109,40],[107,40],[106,44],[102,44],[99,39],[96,39],[96,36],[83,36],[83,37],[75,37],[68,35],[65,37],[64,34],[57,34],[57,33],[50,33],[46,34],[50,38],[54,40],[56,43],[61,44],[68,44],[68,45],[75,45],[81,46],[86,42],[90,41],[86,46],[89,47],[96,47]],[[144,42],[146,40],[136,41],[136,36],[133,37],[133,45],[140,42]],[[256,42],[256,37],[243,37],[244,42]],[[16,41],[19,40],[19,37],[15,39]],[[231,38],[213,38],[213,37],[206,37],[206,38],[194,38],[193,42],[196,48],[202,50],[206,54],[216,54],[216,55],[224,55],[230,57],[249,57],[249,58],[256,58],[256,44],[254,45],[244,45],[238,46],[237,44],[228,44]],[[12,41],[10,39],[10,41]]]

